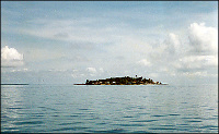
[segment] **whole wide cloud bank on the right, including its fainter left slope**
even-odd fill
[[[163,42],[149,52],[151,63],[145,59],[138,63],[153,64],[152,68],[160,68],[160,72],[170,74],[208,75],[209,70],[218,66],[217,28],[208,27],[205,23],[193,23],[185,34],[188,41],[182,35],[170,33]],[[168,70],[162,70],[163,68]]]

